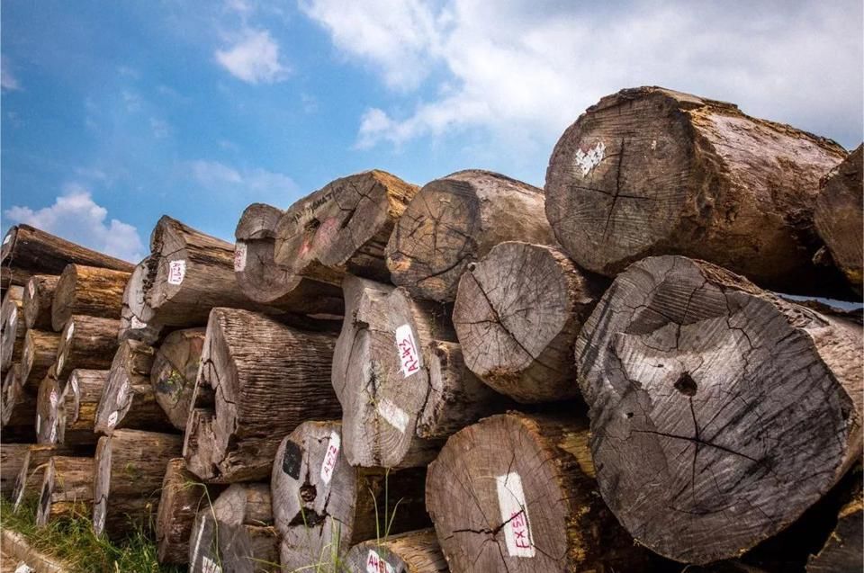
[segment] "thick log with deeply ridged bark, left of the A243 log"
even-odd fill
[[[309,418],[341,416],[329,377],[334,342],[266,315],[213,309],[198,414],[186,425],[188,469],[209,483],[264,479],[285,434]]]

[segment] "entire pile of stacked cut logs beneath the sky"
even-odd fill
[[[860,293],[861,201],[861,148],[644,87],[543,190],[368,171],[137,265],[19,226],[0,493],[196,573],[856,570],[860,312],[773,291]]]

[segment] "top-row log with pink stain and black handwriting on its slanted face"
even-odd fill
[[[348,175],[285,210],[275,228],[275,263],[338,285],[346,273],[388,281],[384,248],[417,185],[383,171]]]

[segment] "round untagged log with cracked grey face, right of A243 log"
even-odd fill
[[[553,246],[492,247],[459,281],[453,322],[465,364],[519,402],[575,398],[573,345],[606,286]]]

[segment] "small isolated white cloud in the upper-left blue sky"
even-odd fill
[[[216,50],[216,61],[248,84],[273,84],[288,74],[279,61],[279,44],[266,30],[244,31],[233,46]]]

